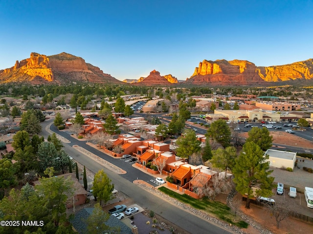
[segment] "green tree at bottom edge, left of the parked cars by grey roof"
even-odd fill
[[[106,225],[106,221],[110,218],[109,213],[102,210],[99,203],[94,205],[94,209],[89,217],[86,219],[87,231],[89,234],[103,234],[111,233],[115,228]],[[115,232],[112,232],[115,233]]]

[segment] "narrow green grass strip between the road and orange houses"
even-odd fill
[[[160,187],[160,191],[166,193],[167,195],[176,198],[177,200],[189,204],[195,209],[202,210],[216,218],[219,218],[221,220],[224,220],[227,223],[231,223],[232,225],[236,225],[240,228],[247,228],[248,224],[240,220],[239,217],[237,216],[236,220],[237,222],[234,222],[234,214],[231,212],[230,208],[221,203],[221,202],[216,202],[216,201],[211,201],[207,198],[202,198],[202,199],[195,199],[193,197],[188,196],[187,194],[179,194],[175,191],[169,190],[165,187]]]

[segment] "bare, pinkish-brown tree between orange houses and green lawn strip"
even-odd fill
[[[197,177],[201,177],[201,174],[198,174]],[[230,179],[224,177],[224,173],[216,173],[212,175],[210,180],[206,183],[204,175],[203,179],[198,181],[202,186],[197,187],[199,195],[204,195],[214,201],[215,197],[220,193],[227,193],[231,190],[232,185]],[[205,176],[206,177],[206,176]]]

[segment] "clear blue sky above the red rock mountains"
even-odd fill
[[[0,0],[0,69],[67,52],[119,80],[185,80],[204,59],[313,58],[312,28],[313,0]]]

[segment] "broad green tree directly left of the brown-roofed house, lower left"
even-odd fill
[[[51,178],[39,179],[40,184],[36,185],[38,194],[45,199],[45,207],[51,211],[55,226],[67,220],[66,202],[68,197],[74,195],[73,181],[64,176],[52,176]]]

